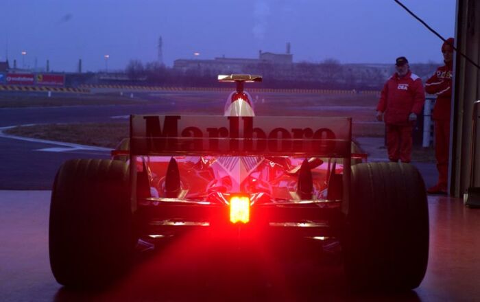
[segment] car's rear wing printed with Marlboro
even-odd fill
[[[131,155],[350,157],[349,117],[132,115]]]

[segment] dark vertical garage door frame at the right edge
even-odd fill
[[[457,49],[480,65],[480,1],[457,0]],[[480,100],[480,71],[455,53],[455,86],[452,102],[450,193],[462,197],[470,184],[473,102]],[[478,115],[477,115],[478,116]],[[475,141],[475,183],[480,187],[480,121]]]

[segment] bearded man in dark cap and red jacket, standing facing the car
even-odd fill
[[[385,121],[388,159],[409,163],[413,124],[422,111],[425,94],[422,80],[411,73],[407,58],[397,58],[395,69],[396,73],[383,86],[376,119]]]

